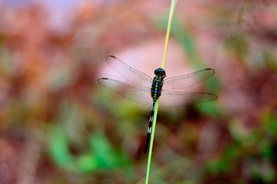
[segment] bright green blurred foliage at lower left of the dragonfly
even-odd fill
[[[66,170],[91,172],[95,170],[112,170],[116,167],[129,167],[126,155],[120,154],[111,146],[101,132],[94,132],[89,138],[89,150],[82,154],[73,154],[69,150],[69,139],[61,127],[51,127],[49,146],[53,160]]]

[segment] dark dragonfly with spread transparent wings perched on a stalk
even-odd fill
[[[158,99],[159,105],[164,108],[181,107],[217,99],[217,95],[210,92],[178,91],[206,81],[206,79],[215,74],[215,70],[212,68],[205,68],[197,72],[173,76],[168,79],[165,79],[166,71],[163,68],[157,68],[154,70],[155,76],[152,79],[148,74],[130,67],[117,57],[110,55],[106,57],[106,62],[129,83],[109,78],[100,78],[97,80],[100,85],[135,103],[143,105],[152,103],[144,154],[148,150],[154,109]]]

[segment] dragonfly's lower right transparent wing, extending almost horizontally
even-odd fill
[[[209,92],[173,92],[162,90],[160,104],[165,108],[174,108],[193,103],[213,101],[215,99],[217,99],[217,96]]]

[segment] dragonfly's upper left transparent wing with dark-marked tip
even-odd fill
[[[123,76],[123,78],[129,82],[145,87],[152,85],[152,79],[150,76],[130,67],[120,59],[114,56],[108,56],[106,57],[106,61],[111,68],[113,68],[116,72],[118,72],[118,74]]]

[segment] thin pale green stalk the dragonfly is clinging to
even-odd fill
[[[161,62],[161,68],[164,68],[164,65],[166,63],[166,52],[168,50],[168,40],[169,40],[169,35],[170,35],[171,22],[172,22],[173,12],[175,10],[176,3],[177,3],[177,0],[172,0],[171,4],[170,4],[170,12],[169,12],[169,17],[168,17],[168,28],[166,30],[166,41],[165,41],[165,46],[163,49],[163,61]],[[152,148],[153,148],[154,134],[155,134],[155,128],[156,128],[158,107],[159,107],[159,99],[157,100],[155,109],[154,109],[154,119],[153,119],[153,124],[152,124],[152,131],[151,131],[151,139],[150,139],[150,147],[149,147],[149,153],[148,153],[148,165],[147,165],[146,176],[145,176],[145,184],[148,184],[148,182],[149,182],[151,156],[152,156]]]

